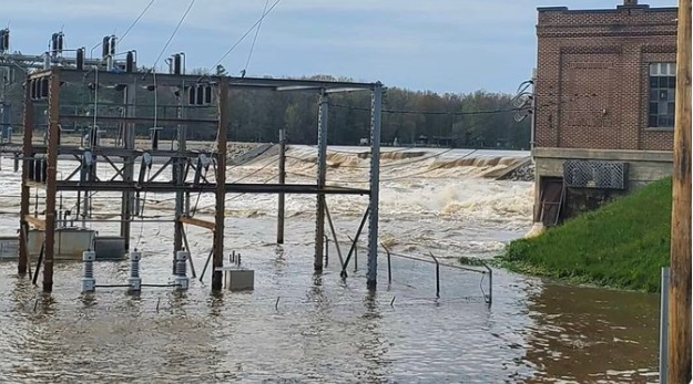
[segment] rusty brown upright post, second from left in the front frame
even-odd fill
[[[48,169],[45,178],[45,251],[43,292],[53,291],[53,253],[55,251],[55,176],[58,173],[58,135],[60,118],[60,70],[52,71],[48,91]]]

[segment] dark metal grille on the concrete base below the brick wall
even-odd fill
[[[567,160],[563,180],[568,187],[625,189],[628,163]]]

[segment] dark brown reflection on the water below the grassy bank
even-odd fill
[[[530,302],[527,359],[541,366],[537,382],[658,382],[658,295],[549,286]]]

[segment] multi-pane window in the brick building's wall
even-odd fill
[[[676,64],[650,64],[650,113],[651,128],[674,127],[674,95],[676,94]]]

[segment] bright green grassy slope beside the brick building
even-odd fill
[[[669,266],[671,178],[584,214],[499,259],[512,271],[602,287],[656,292]]]

